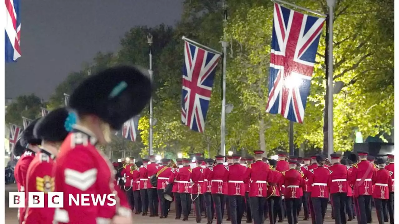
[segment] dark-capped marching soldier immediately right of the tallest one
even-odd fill
[[[267,183],[267,203],[269,206],[269,220],[270,224],[276,224],[277,215],[279,215],[279,222],[282,222],[282,200],[281,200],[281,189],[283,178],[282,173],[276,170],[277,161],[275,159],[269,159],[271,166],[269,182]]]

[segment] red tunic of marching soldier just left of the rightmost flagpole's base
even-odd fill
[[[318,166],[315,169],[309,170],[309,185],[311,186],[311,197],[328,198],[328,181],[330,179],[331,171],[324,166]]]

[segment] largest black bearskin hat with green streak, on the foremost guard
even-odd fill
[[[94,114],[119,130],[143,110],[152,89],[146,72],[130,66],[111,67],[83,81],[70,96],[69,106],[79,116]]]

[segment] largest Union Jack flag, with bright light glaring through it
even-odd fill
[[[266,112],[303,122],[324,20],[274,5]]]

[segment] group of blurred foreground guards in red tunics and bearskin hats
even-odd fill
[[[18,209],[20,224],[133,223],[113,165],[99,146],[107,145],[124,122],[145,108],[152,89],[146,71],[111,67],[80,83],[68,108],[56,108],[29,124],[13,149],[21,154],[14,170],[18,191],[25,192],[25,207]],[[62,208],[49,208],[50,192],[63,192]],[[29,193],[43,194],[44,208],[28,206]],[[116,202],[69,204],[70,194],[115,194]]]

